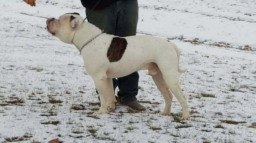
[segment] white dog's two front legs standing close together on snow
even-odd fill
[[[105,114],[107,111],[115,110],[115,93],[111,78],[93,79],[94,84],[100,95],[100,110],[99,114]]]

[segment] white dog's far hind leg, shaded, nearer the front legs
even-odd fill
[[[164,111],[161,111],[159,114],[169,115],[170,111],[171,111],[171,105],[172,105],[172,97],[173,97],[172,93],[170,92],[170,89],[164,82],[163,75],[162,75],[161,71],[159,71],[155,75],[152,75],[152,78],[153,78],[154,82],[156,83],[157,88],[164,96],[164,100],[165,100]]]

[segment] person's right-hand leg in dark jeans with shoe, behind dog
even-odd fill
[[[117,1],[116,30],[115,35],[119,37],[133,36],[137,33],[138,23],[138,1]],[[120,77],[118,80],[119,92],[117,96],[120,101],[137,110],[145,110],[137,101],[139,74],[134,72],[130,75]]]

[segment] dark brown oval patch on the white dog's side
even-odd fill
[[[114,37],[108,48],[107,57],[110,62],[119,61],[127,47],[127,41],[125,38]]]

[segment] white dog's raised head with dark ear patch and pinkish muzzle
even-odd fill
[[[76,29],[83,23],[83,21],[84,19],[79,13],[66,13],[60,16],[59,19],[47,19],[47,31],[61,41],[71,44]]]

